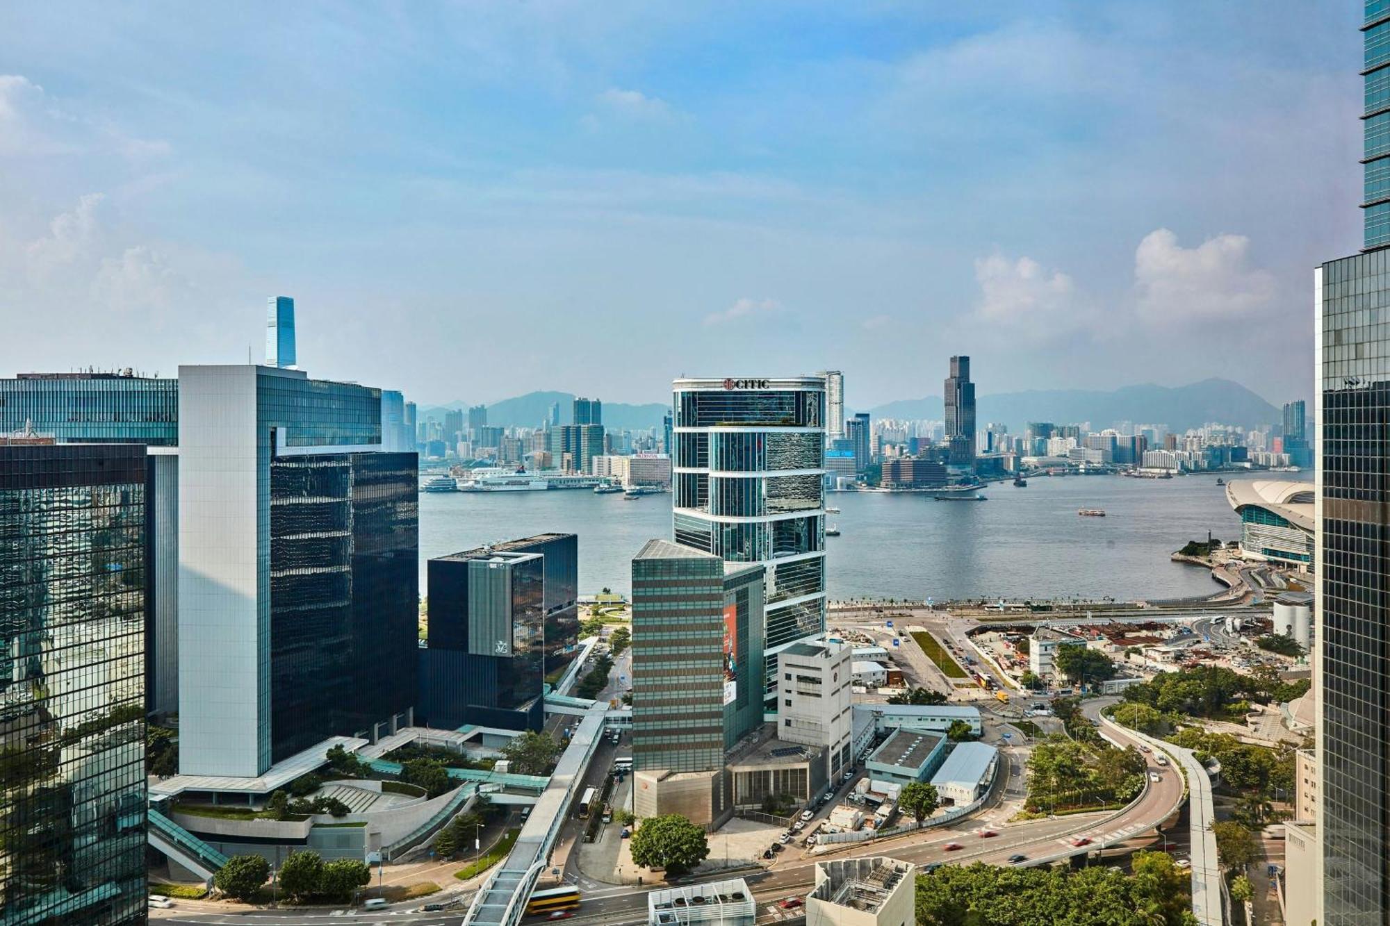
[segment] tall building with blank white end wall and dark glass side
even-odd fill
[[[381,391],[179,367],[179,770],[257,777],[416,698],[418,467]]]

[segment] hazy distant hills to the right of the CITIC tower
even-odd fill
[[[1276,409],[1238,382],[1202,380],[1184,387],[1133,385],[1112,392],[1090,389],[1034,389],[1001,392],[977,399],[976,420],[980,428],[1002,421],[1012,432],[1022,432],[1029,421],[1072,424],[1090,421],[1097,430],[1118,421],[1166,424],[1172,430],[1200,427],[1208,421],[1273,424],[1283,417]],[[888,402],[870,409],[874,419],[941,420],[940,396]]]

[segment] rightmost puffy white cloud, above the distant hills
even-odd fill
[[[1250,266],[1250,239],[1218,235],[1183,247],[1159,228],[1134,250],[1136,311],[1156,327],[1244,318],[1266,309],[1275,275]]]

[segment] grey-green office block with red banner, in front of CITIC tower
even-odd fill
[[[717,826],[733,813],[724,756],[763,722],[763,576],[662,539],[632,559],[639,815]]]

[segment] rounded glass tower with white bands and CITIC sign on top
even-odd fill
[[[673,389],[676,542],[766,564],[774,691],[776,653],[826,627],[824,380],[682,378]]]

